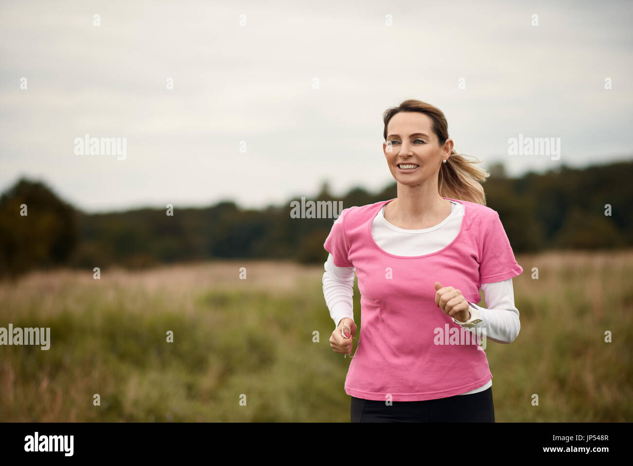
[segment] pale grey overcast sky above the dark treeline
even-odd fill
[[[633,154],[629,1],[0,5],[0,191],[27,176],[89,212],[382,189],[382,112],[407,98],[510,175]],[[85,134],[125,160],[75,154]],[[560,160],[508,154],[519,134]]]

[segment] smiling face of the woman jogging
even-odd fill
[[[391,174],[399,183],[416,185],[436,176],[442,158],[453,149],[451,139],[446,140],[443,148],[439,146],[431,125],[429,116],[418,111],[401,111],[389,120],[382,151]],[[446,155],[442,156],[444,152]]]

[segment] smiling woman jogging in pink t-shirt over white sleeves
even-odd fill
[[[489,173],[453,150],[436,107],[410,99],[383,120],[398,197],[343,210],[323,244],[336,353],[351,354],[357,330],[354,272],[361,293],[345,381],[351,420],[494,422],[485,338],[517,337],[512,278],[523,268],[485,205],[478,181]],[[488,308],[475,304],[479,289]]]

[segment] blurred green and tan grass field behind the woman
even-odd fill
[[[633,251],[517,261],[520,334],[486,348],[496,421],[633,420]],[[92,274],[0,282],[0,327],[51,328],[47,351],[0,346],[3,422],[349,422],[350,359],[330,348],[322,266],[222,261]],[[360,331],[357,284],[354,314]]]

